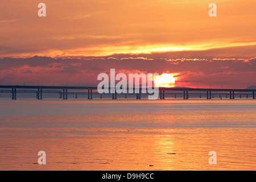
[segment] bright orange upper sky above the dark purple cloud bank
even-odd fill
[[[40,2],[46,3],[47,17],[38,16]],[[211,2],[2,0],[0,56],[106,56],[256,45],[254,0],[215,0],[213,18],[208,15]]]

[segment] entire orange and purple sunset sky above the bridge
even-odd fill
[[[46,4],[46,17],[38,4]],[[210,17],[209,3],[217,16]],[[111,68],[175,86],[256,85],[254,0],[2,0],[0,84],[97,85]]]

